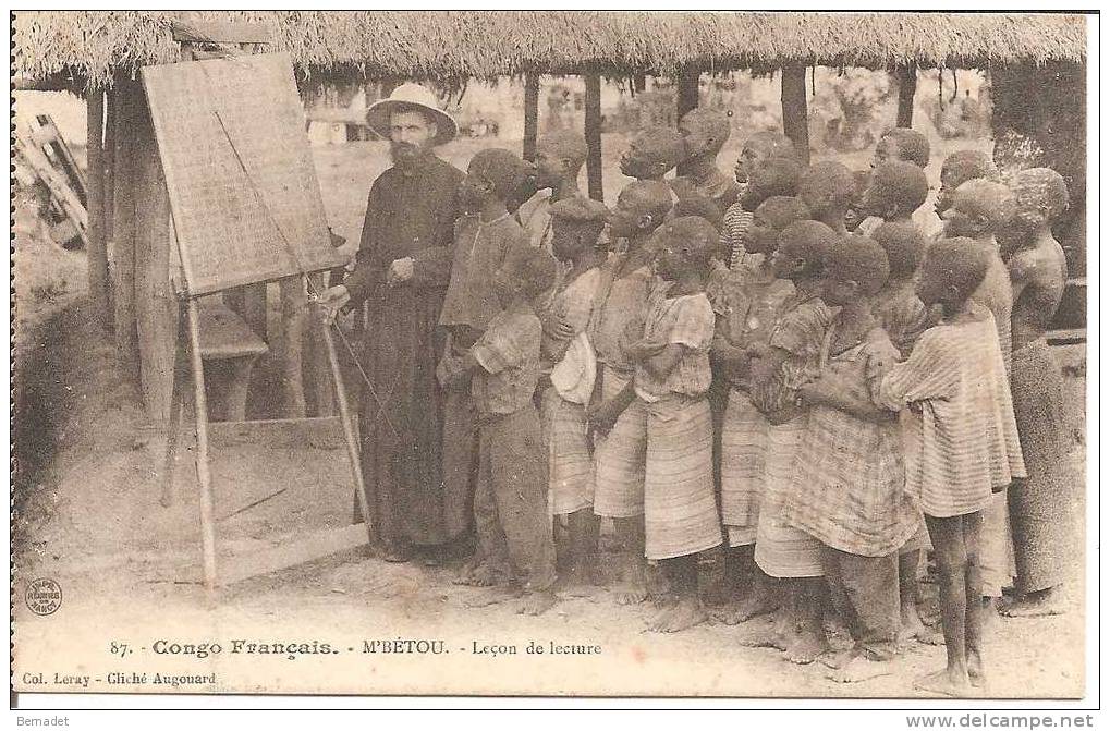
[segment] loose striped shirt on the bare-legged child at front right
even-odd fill
[[[995,318],[981,306],[966,320],[927,330],[882,379],[876,402],[895,411],[921,405],[906,489],[927,515],[981,511],[992,489],[1026,477]]]

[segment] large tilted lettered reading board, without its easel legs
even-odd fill
[[[344,263],[285,53],[142,69],[191,296]]]

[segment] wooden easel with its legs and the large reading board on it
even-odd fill
[[[252,284],[284,281],[312,290],[317,272],[342,263],[331,246],[319,184],[315,181],[292,66],[284,54],[256,54],[192,63],[145,67],[143,83],[165,174],[180,256],[174,289],[181,337],[174,356],[163,498],[172,489],[183,394],[192,382],[200,488],[201,553],[206,589],[226,585],[364,544],[372,525],[354,524],[317,531],[304,539],[244,557],[218,571],[210,423],[204,388],[199,299]],[[236,86],[239,84],[239,86]],[[258,102],[246,91],[262,89]],[[255,103],[273,108],[258,110]],[[295,108],[295,110],[294,110]],[[261,111],[261,113],[260,113]],[[258,119],[255,119],[258,118]],[[195,140],[205,138],[199,151]],[[260,153],[263,150],[264,153]],[[253,156],[253,157],[252,157]],[[222,193],[212,197],[211,190]],[[184,309],[184,317],[181,314]],[[310,318],[327,352],[339,417],[221,422],[238,429],[273,433],[293,424],[342,425],[355,494],[370,514],[360,450],[331,331]],[[188,342],[188,344],[185,344]]]

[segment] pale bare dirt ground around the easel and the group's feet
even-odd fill
[[[461,164],[476,146],[455,143],[446,157]],[[607,144],[608,150],[616,147]],[[357,240],[370,182],[384,168],[382,153],[380,143],[316,150],[330,221],[351,241]],[[607,171],[614,168],[607,166]],[[612,196],[619,173],[608,178]],[[84,690],[101,692],[911,697],[912,679],[942,663],[942,648],[910,644],[891,675],[838,685],[824,678],[819,664],[795,667],[775,650],[741,647],[739,639],[755,632],[758,621],[653,634],[645,632],[650,604],[618,608],[605,591],[564,597],[547,615],[524,618],[509,604],[470,607],[476,590],[453,585],[450,567],[386,564],[360,550],[242,582],[212,601],[195,583],[199,510],[191,460],[179,461],[174,503],[163,508],[164,435],[144,417],[134,389],[121,381],[111,338],[90,324],[83,258],[50,244],[33,217],[21,216],[16,243],[16,595],[22,597],[29,580],[44,577],[61,585],[64,598],[48,617],[16,602],[17,690],[81,690],[54,679],[57,672],[88,674]],[[1081,470],[1086,351],[1079,346],[1057,354],[1068,390],[1070,457]],[[224,565],[283,538],[350,522],[341,442],[322,434],[265,444],[215,442],[215,515]],[[1076,492],[1081,527],[1082,490]],[[1073,554],[1078,577],[1078,541]],[[604,562],[612,563],[612,554]],[[1000,622],[987,648],[989,695],[1083,693],[1080,585],[1072,582],[1068,614]],[[926,584],[925,611],[931,618],[935,593]],[[408,638],[443,640],[445,652],[362,651],[364,640]],[[221,652],[162,654],[155,650],[162,647],[155,644],[160,639],[219,642]],[[233,651],[236,639],[305,643],[317,650],[327,643],[330,650],[295,659],[248,654]],[[535,655],[527,653],[529,642],[601,650],[589,657]],[[127,643],[131,653],[113,653],[113,643],[117,650]],[[484,645],[512,645],[517,653],[477,652]],[[113,683],[108,675],[113,671],[212,678],[173,688]],[[42,673],[41,683],[37,673]]]

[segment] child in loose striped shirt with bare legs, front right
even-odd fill
[[[877,403],[918,404],[907,491],[929,525],[940,582],[948,662],[916,688],[946,695],[983,683],[979,533],[992,490],[1025,475],[993,317],[971,294],[988,258],[969,240],[940,240],[921,267],[918,296],[940,304],[944,319],[921,336],[905,363],[882,379]]]

